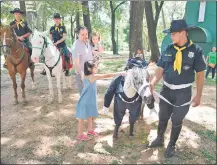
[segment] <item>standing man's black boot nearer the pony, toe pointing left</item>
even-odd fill
[[[164,144],[164,133],[167,128],[167,123],[159,121],[157,129],[157,138],[149,145],[149,148],[152,147],[161,147]]]

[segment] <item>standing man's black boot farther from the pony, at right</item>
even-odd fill
[[[166,148],[166,151],[165,151],[165,157],[166,158],[169,158],[169,157],[172,157],[174,154],[175,154],[175,145],[176,145],[176,141],[179,137],[179,134],[181,132],[181,129],[182,129],[182,125],[178,125],[178,126],[175,126],[173,125],[172,126],[172,131],[171,131],[171,135],[170,135],[170,142]]]

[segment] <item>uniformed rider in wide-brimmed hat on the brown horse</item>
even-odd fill
[[[22,14],[24,13],[23,11],[21,11],[19,8],[15,8],[13,11],[10,11],[10,13],[14,14],[15,18],[15,20],[10,23],[10,26],[16,24],[14,31],[17,35],[17,39],[20,42],[23,42],[24,46],[28,49],[30,68],[34,68],[34,63],[31,61],[32,45],[29,42],[29,36],[31,35],[32,30],[28,27],[27,22],[22,19]],[[4,67],[7,68],[6,62]]]

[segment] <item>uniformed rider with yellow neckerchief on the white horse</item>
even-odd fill
[[[50,39],[54,42],[54,45],[56,45],[59,49],[61,54],[64,55],[64,59],[66,62],[66,72],[65,76],[70,76],[69,72],[69,66],[70,66],[70,57],[69,57],[69,50],[66,47],[66,27],[62,25],[61,23],[61,17],[59,13],[55,13],[53,16],[55,25],[50,28]],[[43,75],[46,75],[45,70],[41,73]]]

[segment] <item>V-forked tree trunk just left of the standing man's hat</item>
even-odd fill
[[[158,4],[158,1],[155,1],[155,17],[153,14],[152,9],[152,2],[151,1],[145,1],[145,15],[146,15],[146,22],[148,27],[148,38],[151,48],[151,59],[157,60],[160,56],[160,51],[158,47],[157,42],[157,23],[160,15],[160,11],[162,9],[164,1],[160,2],[160,5]]]

